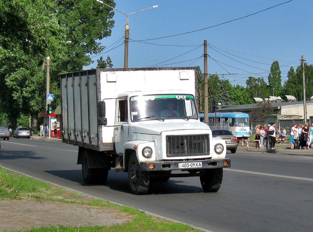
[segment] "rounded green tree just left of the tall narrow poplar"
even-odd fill
[[[263,77],[255,78],[249,76],[246,80],[246,85],[251,98],[260,97],[264,99],[268,97],[267,84],[265,83]]]

